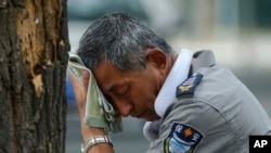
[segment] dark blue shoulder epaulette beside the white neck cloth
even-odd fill
[[[177,87],[176,98],[180,98],[182,95],[193,95],[195,88],[201,82],[202,78],[202,74],[194,74],[192,77],[185,79]]]

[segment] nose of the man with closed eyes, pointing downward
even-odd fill
[[[130,115],[132,105],[129,102],[125,100],[116,100],[114,101],[114,104],[120,116],[128,117]]]

